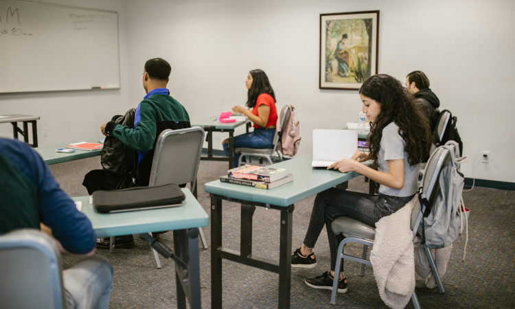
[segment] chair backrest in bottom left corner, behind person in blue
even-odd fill
[[[0,236],[0,307],[64,308],[56,242],[36,229]]]

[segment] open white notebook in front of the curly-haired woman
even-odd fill
[[[350,159],[358,150],[356,130],[313,130],[313,168],[327,168],[341,159]]]

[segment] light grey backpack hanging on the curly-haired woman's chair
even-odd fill
[[[459,157],[456,141],[448,141],[444,146],[439,146],[439,148],[441,147],[449,150],[450,160],[439,174],[439,192],[433,207],[429,205],[425,194],[422,193],[422,187],[418,196],[420,205],[426,207],[419,228],[419,234],[422,236],[421,244],[426,244],[431,249],[444,248],[453,244],[461,236],[464,225],[468,233],[468,209],[465,208],[463,198],[461,198],[465,179],[464,175],[459,172],[459,166],[466,158]],[[435,153],[436,151],[433,152],[433,155]],[[424,170],[424,172],[426,171]]]

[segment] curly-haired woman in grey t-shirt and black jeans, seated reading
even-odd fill
[[[363,82],[359,94],[363,113],[370,119],[367,137],[370,152],[357,151],[351,159],[332,163],[328,170],[358,172],[379,183],[379,192],[372,195],[332,187],[317,194],[304,243],[291,259],[292,267],[317,265],[312,251],[325,225],[331,267],[323,275],[304,281],[312,288],[332,290],[336,251],[342,239],[332,232],[332,221],[339,216],[350,216],[373,227],[383,216],[402,208],[417,192],[420,163],[427,158],[431,146],[427,119],[398,80],[386,74],[371,76]],[[361,163],[367,160],[374,161],[377,170]],[[338,293],[346,293],[343,272],[339,279]]]

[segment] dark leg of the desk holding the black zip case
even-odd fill
[[[174,253],[188,269],[175,264],[177,307],[186,308],[186,297],[191,308],[201,308],[201,274],[198,256],[198,229],[174,231]]]

